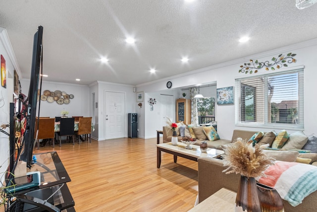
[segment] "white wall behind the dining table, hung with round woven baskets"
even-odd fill
[[[30,86],[30,79],[21,80],[22,93],[28,96]],[[90,116],[90,98],[88,85],[66,84],[60,82],[42,81],[42,91],[60,90],[65,91],[67,94],[73,94],[74,98],[70,99],[69,104],[57,104],[55,101],[50,103],[48,101],[41,101],[40,116],[49,116],[54,118],[55,116],[61,116],[60,112],[66,110],[69,112],[68,117],[71,116]],[[38,113],[37,115],[38,116]]]

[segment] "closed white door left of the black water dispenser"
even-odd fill
[[[105,94],[105,138],[124,138],[125,133],[125,93],[108,92]]]

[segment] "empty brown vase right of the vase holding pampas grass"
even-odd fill
[[[278,192],[269,186],[257,183],[262,212],[284,212],[284,204]]]

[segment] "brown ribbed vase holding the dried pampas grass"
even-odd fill
[[[237,191],[235,212],[261,212],[255,178],[241,176]]]

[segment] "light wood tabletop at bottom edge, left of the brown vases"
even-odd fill
[[[237,193],[222,188],[188,212],[234,212]]]

